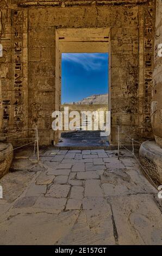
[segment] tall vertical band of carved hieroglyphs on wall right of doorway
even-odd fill
[[[151,134],[151,94],[153,74],[153,19],[154,8],[148,7],[144,13],[144,133]]]

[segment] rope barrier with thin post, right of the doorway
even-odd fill
[[[121,140],[120,140],[120,127],[118,126],[118,153],[117,153],[117,155],[118,155],[118,159],[119,159],[119,156],[120,156],[120,146],[122,146],[124,149],[126,149],[129,153],[131,153],[133,156],[134,156],[134,158],[135,158],[135,160],[140,164],[140,166],[141,166],[141,168],[144,170],[144,172],[145,172],[145,174],[148,176],[148,178],[153,182],[153,184],[154,184],[154,186],[155,186],[155,188],[157,188],[157,190],[158,190],[158,186],[155,184],[155,182],[152,180],[152,178],[151,178],[151,176],[149,176],[149,174],[146,172],[146,170],[145,170],[145,168],[142,166],[142,164],[140,163],[140,161],[138,160],[138,158],[135,156],[135,154],[134,154],[134,144],[133,144],[133,142],[135,141],[135,139],[133,139],[133,138],[131,138],[130,136],[128,136],[128,135],[126,135],[127,137],[129,137],[131,140],[132,140],[132,151],[130,151],[129,149],[127,149],[122,143],[121,143]],[[122,131],[122,133],[124,133],[123,131]],[[126,133],[124,133],[124,134],[126,134]],[[137,141],[135,141],[135,142],[137,142]],[[139,144],[141,144],[140,142],[138,142]]]

